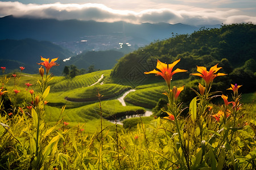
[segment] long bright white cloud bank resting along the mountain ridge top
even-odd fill
[[[201,1],[201,0],[198,0]],[[220,1],[217,1],[220,3]],[[151,5],[153,5],[152,3]],[[163,3],[164,4],[164,3]],[[158,6],[159,7],[159,6]],[[96,20],[98,22],[125,21],[131,23],[184,23],[191,25],[201,24],[230,24],[241,22],[256,23],[255,16],[241,15],[241,10],[229,8],[199,8],[184,5],[168,5],[165,8],[151,8],[149,10],[131,11],[114,10],[99,3],[46,5],[28,4],[20,2],[1,2],[0,16],[31,16],[38,18],[56,18]]]

